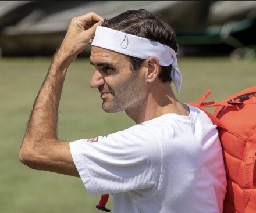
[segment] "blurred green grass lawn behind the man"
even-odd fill
[[[79,178],[34,171],[18,160],[19,148],[35,96],[51,59],[0,59],[0,212],[98,212]],[[182,102],[197,102],[212,89],[208,100],[221,100],[256,83],[256,62],[227,58],[181,58]],[[134,122],[125,113],[101,109],[97,89],[90,88],[94,68],[76,60],[66,76],[59,109],[59,138],[76,140],[106,135]],[[111,201],[108,204],[111,207]]]

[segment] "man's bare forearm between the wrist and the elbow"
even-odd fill
[[[56,53],[35,99],[24,139],[57,139],[58,106],[68,66],[65,58]]]

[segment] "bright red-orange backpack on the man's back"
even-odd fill
[[[196,107],[215,106],[214,114],[204,110],[217,125],[227,175],[223,213],[256,213],[256,86],[221,102],[203,101]]]

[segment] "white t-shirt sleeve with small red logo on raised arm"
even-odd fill
[[[92,195],[145,189],[154,193],[161,174],[161,149],[140,125],[108,136],[70,142],[77,171]]]

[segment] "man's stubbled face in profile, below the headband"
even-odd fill
[[[90,60],[96,68],[91,87],[99,89],[104,111],[115,113],[140,106],[146,95],[145,77],[141,71],[131,70],[125,55],[93,46]]]

